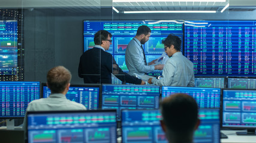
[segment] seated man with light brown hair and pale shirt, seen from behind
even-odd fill
[[[28,111],[86,110],[85,105],[70,101],[66,94],[70,88],[71,73],[63,66],[53,67],[47,73],[47,86],[51,91],[48,98],[31,101],[26,108],[23,129],[26,138],[26,116]]]

